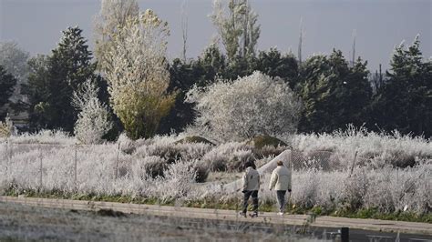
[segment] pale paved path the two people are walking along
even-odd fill
[[[279,217],[275,213],[260,213],[259,217],[239,217],[233,210],[170,207],[157,205],[124,204],[112,202],[80,201],[68,199],[48,199],[36,197],[0,197],[0,202],[18,203],[37,207],[56,207],[77,210],[112,209],[123,213],[148,214],[155,216],[190,217],[217,219],[226,221],[244,221],[263,224],[282,224],[291,226],[304,225],[308,216],[285,215]],[[352,229],[364,229],[389,233],[417,234],[432,236],[432,224],[413,223],[403,221],[386,221],[377,219],[360,219],[346,217],[317,217],[313,227],[350,227]]]

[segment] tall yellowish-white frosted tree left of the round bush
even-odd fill
[[[168,23],[153,11],[131,16],[113,36],[106,71],[111,105],[132,139],[153,136],[175,101],[168,94]]]

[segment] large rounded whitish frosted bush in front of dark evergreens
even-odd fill
[[[287,83],[261,72],[203,88],[194,86],[186,101],[196,103],[195,126],[207,126],[209,136],[223,141],[293,133],[302,110]]]

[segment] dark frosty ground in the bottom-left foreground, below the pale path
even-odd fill
[[[303,240],[300,236],[284,233],[282,228],[265,231],[248,227],[245,223],[229,224],[199,219],[131,215],[110,210],[77,211],[0,203],[0,240]],[[304,238],[304,241],[309,239]]]

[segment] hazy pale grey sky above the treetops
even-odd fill
[[[169,56],[180,56],[180,5],[183,0],[140,0],[141,10],[151,8],[170,24]],[[348,58],[356,31],[356,54],[386,68],[395,45],[412,43],[420,34],[421,50],[432,55],[432,0],[250,0],[260,15],[258,49],[277,46],[297,53],[299,23],[305,31],[303,58],[328,54],[333,47]],[[0,0],[0,41],[16,41],[32,55],[48,54],[61,31],[78,25],[93,45],[93,19],[99,0]],[[188,57],[196,57],[209,45],[215,30],[208,15],[211,0],[189,0]]]

